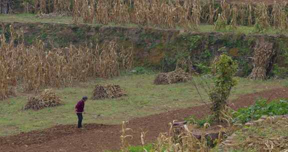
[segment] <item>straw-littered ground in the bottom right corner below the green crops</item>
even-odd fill
[[[287,117],[273,118],[259,122],[237,132],[225,149],[243,149],[243,151],[287,151]]]

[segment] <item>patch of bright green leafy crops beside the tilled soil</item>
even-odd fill
[[[262,115],[283,115],[288,114],[288,100],[273,100],[268,102],[266,99],[256,101],[254,105],[240,108],[234,113],[234,121],[245,123],[250,120],[259,119]]]

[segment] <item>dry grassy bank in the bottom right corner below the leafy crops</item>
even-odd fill
[[[279,119],[275,120],[273,123],[270,122],[262,122],[258,126],[249,126],[243,130],[239,130],[235,132],[237,135],[235,139],[233,139],[233,148],[227,148],[224,151],[226,152],[256,152],[256,151],[268,151],[264,150],[267,148],[265,146],[265,141],[274,141],[274,143],[280,143],[281,147],[278,145],[269,146],[272,151],[280,152],[285,151],[283,149],[287,148],[287,144],[284,145],[283,143],[286,140],[281,140],[280,137],[287,137],[288,136],[288,119]],[[251,147],[247,146],[251,143]],[[252,144],[253,143],[253,144]],[[270,144],[270,142],[269,142]],[[279,144],[280,145],[280,144]],[[217,147],[212,149],[211,152],[219,152]]]

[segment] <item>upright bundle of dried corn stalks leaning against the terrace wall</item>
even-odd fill
[[[257,41],[254,47],[253,65],[254,68],[248,76],[249,79],[267,79],[267,68],[271,63],[272,57],[275,55],[273,43],[263,40]]]

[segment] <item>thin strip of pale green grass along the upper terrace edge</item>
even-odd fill
[[[43,23],[72,23],[72,17],[71,16],[55,16],[55,17],[49,17],[49,18],[39,18],[36,17],[35,14],[29,14],[29,13],[21,13],[21,14],[0,14],[0,21],[4,22],[43,22]],[[81,22],[80,22],[81,23]],[[95,25],[95,24],[94,24]],[[108,24],[108,26],[115,26],[115,24]],[[136,24],[125,24],[124,26],[129,27],[137,27],[139,25]],[[235,33],[253,33],[254,28],[250,26],[238,26],[235,30]],[[199,32],[211,32],[215,31],[213,29],[213,25],[200,25],[199,29],[197,30]],[[231,30],[217,30],[219,32],[231,32]],[[281,33],[278,29],[269,28],[264,33],[268,34],[279,34]],[[285,31],[284,33],[287,33]]]

